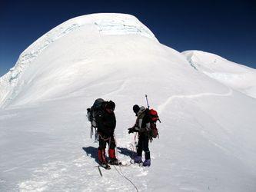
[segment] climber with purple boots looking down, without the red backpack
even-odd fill
[[[135,163],[142,163],[142,151],[145,152],[145,161],[143,166],[149,167],[151,165],[150,151],[148,148],[148,131],[150,131],[150,118],[148,114],[148,108],[138,106],[135,104],[133,106],[133,111],[135,112],[137,119],[135,126],[129,128],[128,133],[138,132],[138,145],[137,145],[137,155],[135,156]]]

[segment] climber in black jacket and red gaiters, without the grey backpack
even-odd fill
[[[96,114],[96,122],[98,124],[98,160],[101,164],[108,167],[109,164],[118,164],[118,159],[115,156],[115,103],[113,101],[106,101],[101,105],[101,110]],[[108,143],[108,157],[110,158],[109,162],[106,160],[105,148]]]

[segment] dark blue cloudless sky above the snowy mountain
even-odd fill
[[[202,50],[256,68],[256,1],[0,2],[0,76],[33,41],[69,18],[97,12],[135,15],[177,51]]]

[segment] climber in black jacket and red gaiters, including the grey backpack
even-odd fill
[[[91,109],[88,110],[91,111],[88,116],[91,115],[91,126],[97,127],[96,131],[98,133],[99,142],[98,161],[102,167],[109,169],[109,164],[119,164],[119,161],[115,156],[115,103],[113,101],[104,101],[103,99],[98,99],[95,103],[95,107],[93,105]],[[107,144],[109,161],[107,161],[105,155]]]

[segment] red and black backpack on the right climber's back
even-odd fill
[[[150,122],[150,131],[149,131],[149,138],[152,141],[153,138],[158,137],[159,138],[159,134],[158,134],[158,128],[156,127],[156,122],[160,121],[159,117],[158,117],[158,112],[155,111],[155,109],[149,109],[148,110],[148,116],[149,116],[149,122]]]

